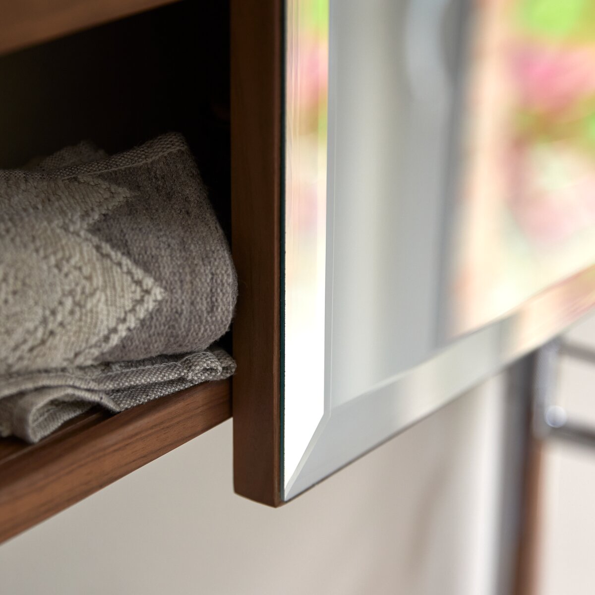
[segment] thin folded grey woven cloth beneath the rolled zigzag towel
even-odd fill
[[[65,421],[101,405],[124,411],[208,380],[236,364],[219,347],[187,355],[8,375],[0,380],[0,436],[37,442]]]

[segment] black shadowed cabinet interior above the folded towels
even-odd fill
[[[229,35],[227,2],[178,2],[0,57],[0,168],[177,131],[228,233]]]

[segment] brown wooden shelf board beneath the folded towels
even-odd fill
[[[89,412],[37,444],[0,440],[0,543],[230,417],[221,380],[112,417]]]

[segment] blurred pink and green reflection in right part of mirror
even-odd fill
[[[476,5],[448,334],[528,345],[595,303],[595,1]]]

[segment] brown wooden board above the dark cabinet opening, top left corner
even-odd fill
[[[176,0],[18,0],[2,4],[0,54]]]

